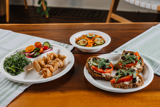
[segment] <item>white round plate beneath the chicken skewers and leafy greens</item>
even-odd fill
[[[19,75],[17,76],[12,76],[10,75],[9,73],[7,73],[4,68],[3,68],[3,64],[4,64],[4,60],[6,57],[10,57],[11,55],[13,55],[16,51],[20,52],[22,50],[24,50],[27,46],[23,46],[23,47],[20,47],[12,52],[10,52],[8,55],[6,55],[1,63],[0,63],[0,71],[1,71],[1,74],[8,78],[9,80],[11,81],[14,81],[14,82],[19,82],[19,83],[27,83],[27,84],[36,84],[36,83],[43,83],[43,82],[48,82],[48,81],[52,81],[52,80],[55,80],[61,76],[63,76],[64,74],[66,74],[73,66],[74,64],[74,56],[73,54],[67,50],[66,48],[62,47],[62,46],[59,46],[59,45],[51,45],[53,47],[53,50],[52,51],[49,51],[47,53],[50,53],[50,52],[55,52],[56,54],[61,54],[61,55],[65,55],[67,56],[67,58],[65,59],[65,64],[64,64],[64,67],[62,68],[59,68],[57,71],[55,71],[53,73],[53,76],[52,77],[49,77],[49,78],[41,78],[39,79],[42,74],[38,73],[35,71],[35,69],[31,70],[31,71],[27,71],[28,68],[30,68],[30,66],[26,66],[24,68],[25,72],[22,72],[20,73]],[[44,54],[41,54],[40,56],[36,57],[36,58],[29,58],[31,61],[34,61],[38,58],[42,58],[43,56],[46,56],[47,53],[44,53]]]

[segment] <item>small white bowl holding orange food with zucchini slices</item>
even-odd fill
[[[102,36],[102,38],[105,40],[105,43],[103,45],[100,45],[100,46],[97,46],[97,47],[83,47],[83,46],[79,46],[75,43],[75,40],[76,40],[75,38],[81,37],[82,35],[89,34],[89,33],[93,33],[93,34]],[[90,52],[90,53],[100,51],[103,47],[107,46],[110,42],[111,42],[111,38],[108,34],[106,34],[104,32],[101,32],[101,31],[96,31],[96,30],[80,31],[78,33],[73,34],[70,37],[70,43],[73,46],[79,48],[83,52]]]

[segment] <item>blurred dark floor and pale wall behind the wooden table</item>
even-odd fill
[[[4,1],[0,0],[0,23],[6,23]],[[9,1],[9,23],[104,23],[112,0],[46,0],[47,7],[50,8],[49,18],[38,14],[39,0],[27,0],[28,9],[24,8],[24,0]],[[120,0],[116,13],[134,22],[160,21],[157,11],[138,7],[124,0]]]

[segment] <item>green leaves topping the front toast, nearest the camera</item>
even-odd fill
[[[129,69],[129,70],[123,70],[123,69],[119,69],[117,71],[117,74],[116,76],[114,76],[114,78],[116,78],[116,83],[117,81],[122,78],[122,77],[126,77],[127,75],[130,75],[130,76],[133,76],[133,78],[136,78],[137,75],[136,75],[136,70],[133,70],[133,69]]]

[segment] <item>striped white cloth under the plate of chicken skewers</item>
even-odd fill
[[[15,50],[23,45],[34,44],[37,41],[42,43],[48,41],[51,44],[61,45],[70,51],[73,49],[73,46],[71,45],[54,40],[0,29],[0,60],[12,50]],[[0,107],[6,107],[15,97],[17,97],[29,86],[30,85],[12,82],[4,78],[0,73]]]

